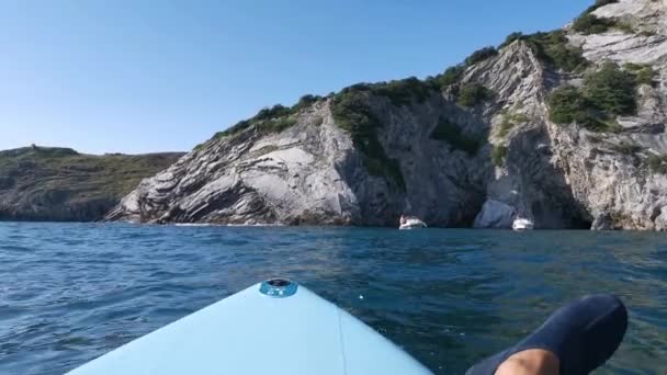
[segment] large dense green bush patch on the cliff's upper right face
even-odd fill
[[[632,73],[607,63],[584,79],[583,87],[563,86],[549,98],[550,120],[558,124],[577,123],[595,132],[618,128],[618,115],[636,112],[636,81]]]

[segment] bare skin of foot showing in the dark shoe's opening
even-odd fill
[[[496,370],[496,375],[558,375],[559,361],[554,353],[530,349],[516,353]]]

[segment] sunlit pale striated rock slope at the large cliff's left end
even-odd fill
[[[353,192],[336,167],[350,138],[320,105],[296,126],[262,137],[252,129],[208,141],[123,200],[110,219],[156,223],[349,224],[359,219]]]

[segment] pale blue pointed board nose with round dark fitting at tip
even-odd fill
[[[343,309],[296,283],[273,279],[138,338],[69,374],[432,373]]]

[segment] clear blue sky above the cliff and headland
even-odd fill
[[[189,150],[259,109],[441,72],[592,0],[0,0],[0,149]]]

